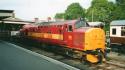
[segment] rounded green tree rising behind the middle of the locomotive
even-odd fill
[[[65,10],[64,19],[78,19],[78,18],[85,17],[85,9],[83,9],[79,3],[72,3],[67,7]]]

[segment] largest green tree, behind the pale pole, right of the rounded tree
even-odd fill
[[[109,22],[113,20],[112,13],[115,6],[108,0],[93,0],[91,7],[87,10],[87,19],[89,21],[105,21]]]

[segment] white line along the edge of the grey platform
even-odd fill
[[[39,54],[39,53],[32,52],[32,51],[30,51],[30,50],[28,50],[28,49],[25,49],[25,48],[22,48],[22,47],[20,47],[20,46],[14,45],[14,44],[12,44],[12,43],[8,43],[8,42],[5,42],[5,41],[3,41],[3,42],[6,43],[6,44],[8,44],[8,45],[12,45],[13,47],[18,48],[18,49],[20,49],[20,50],[23,50],[23,51],[25,51],[25,52],[27,52],[27,53],[30,53],[30,54],[33,54],[33,55],[35,55],[35,56],[41,57],[41,58],[43,58],[43,59],[45,59],[45,60],[47,60],[47,61],[50,61],[50,62],[52,62],[52,63],[54,63],[54,64],[60,65],[60,66],[66,68],[66,69],[68,69],[68,70],[80,70],[80,69],[75,68],[75,67],[72,67],[72,66],[70,66],[70,65],[68,65],[68,64],[62,63],[62,62],[60,62],[60,61],[57,61],[57,60],[55,60],[55,59],[52,59],[52,58],[49,58],[49,57],[47,57],[47,56],[41,55],[41,54]]]

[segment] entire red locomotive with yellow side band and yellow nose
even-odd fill
[[[100,28],[87,27],[83,20],[25,25],[22,37],[35,39],[41,43],[58,45],[63,53],[85,58],[91,63],[105,59],[105,33]]]

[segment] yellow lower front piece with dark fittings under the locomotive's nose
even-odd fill
[[[101,51],[98,51],[97,55],[87,54],[86,60],[90,63],[102,63],[104,59],[104,55]]]

